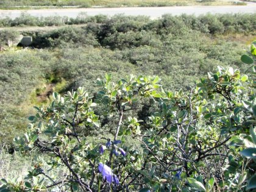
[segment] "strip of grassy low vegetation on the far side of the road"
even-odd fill
[[[255,0],[251,0],[255,1]],[[78,6],[78,7],[163,7],[174,5],[246,5],[246,2],[225,0],[2,0],[2,9],[30,9],[29,6]]]

